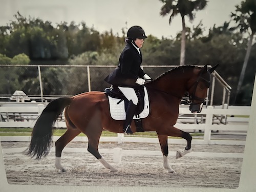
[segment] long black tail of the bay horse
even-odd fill
[[[26,155],[32,157],[36,156],[36,159],[48,155],[53,143],[53,124],[71,101],[71,98],[59,98],[51,101],[46,106],[35,123]]]

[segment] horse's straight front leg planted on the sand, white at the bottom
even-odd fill
[[[159,143],[161,146],[161,151],[163,154],[163,167],[165,168],[167,173],[175,173],[175,170],[172,169],[168,163],[168,143],[167,143],[167,135],[158,135]]]

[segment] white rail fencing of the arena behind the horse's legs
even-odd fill
[[[37,104],[37,106],[0,106],[0,127],[33,127],[35,118],[44,110],[44,104]],[[180,106],[180,114],[191,115],[188,106]],[[3,121],[4,114],[18,114],[23,115],[23,121],[15,121],[15,119],[6,119]],[[207,106],[201,115],[204,118],[200,124],[196,123],[181,123],[182,119],[178,119],[176,127],[188,132],[201,130],[204,133],[203,139],[193,139],[193,144],[227,144],[227,145],[245,145],[244,140],[213,140],[211,139],[211,131],[219,132],[237,132],[246,134],[248,129],[250,107],[236,106],[234,109],[216,109],[214,106]],[[226,124],[216,123],[215,118],[226,118]],[[195,117],[192,117],[195,119]],[[19,119],[20,120],[20,119]],[[194,120],[193,120],[194,121]],[[60,116],[56,121],[55,126],[66,127],[63,116]],[[159,125],[161,126],[161,125]],[[59,137],[53,137],[57,140]],[[1,141],[30,141],[28,136],[17,137],[0,137]],[[87,137],[76,137],[73,141],[88,141]],[[123,134],[118,134],[117,137],[101,137],[101,142],[140,142],[140,143],[158,143],[158,138],[141,138],[141,137],[125,137]],[[168,139],[168,143],[185,144],[184,139]]]

